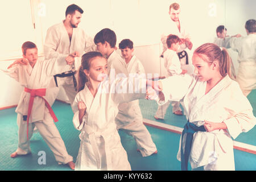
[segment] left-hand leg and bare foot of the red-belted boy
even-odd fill
[[[11,154],[12,158],[15,158],[18,155],[26,155],[31,153],[30,149],[30,138],[32,137],[34,130],[34,123],[28,124],[28,140],[27,140],[27,122],[23,121],[22,114],[17,115],[17,124],[19,127],[18,131],[18,148],[17,150]]]

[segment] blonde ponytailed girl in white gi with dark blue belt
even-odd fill
[[[192,169],[234,170],[232,138],[254,127],[253,108],[230,78],[232,62],[225,48],[203,44],[193,53],[192,63],[195,77],[171,76],[153,86],[162,90],[159,104],[181,98],[184,101],[188,123],[177,159],[183,170],[188,162]],[[149,97],[151,94],[148,90]]]

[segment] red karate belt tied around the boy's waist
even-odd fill
[[[29,123],[29,119],[30,119],[30,115],[31,115],[31,110],[32,110],[32,106],[34,103],[34,98],[36,96],[43,98],[43,96],[46,96],[46,89],[28,89],[28,88],[24,88],[25,92],[30,93],[30,102],[28,104],[28,111],[27,111],[27,140],[28,140],[28,123]],[[49,103],[47,102],[47,100],[45,98],[43,98],[44,102],[46,103],[46,107],[49,110],[49,113],[51,114],[51,117],[53,118],[53,120],[55,122],[58,121],[56,115],[54,114],[52,107],[49,105]]]

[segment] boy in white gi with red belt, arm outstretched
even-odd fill
[[[59,164],[68,164],[74,169],[73,158],[68,155],[65,144],[53,122],[53,119],[57,122],[51,109],[56,89],[49,88],[49,82],[52,75],[72,68],[75,55],[60,55],[54,59],[38,61],[38,48],[32,42],[23,43],[22,52],[23,58],[14,61],[5,71],[7,75],[24,86],[15,110],[18,113],[18,149],[11,154],[11,157],[15,158],[31,152],[30,138],[36,126],[51,148],[56,161]]]

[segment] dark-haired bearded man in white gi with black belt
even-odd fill
[[[67,56],[73,52],[78,56],[71,71],[63,71],[55,75],[56,86],[63,86],[71,106],[77,93],[75,74],[76,67],[81,64],[80,56],[84,52],[96,50],[96,45],[94,45],[92,38],[86,35],[82,28],[78,27],[81,22],[82,13],[84,11],[79,6],[69,5],[65,12],[65,20],[48,28],[44,42],[44,56],[46,59],[59,55]]]

